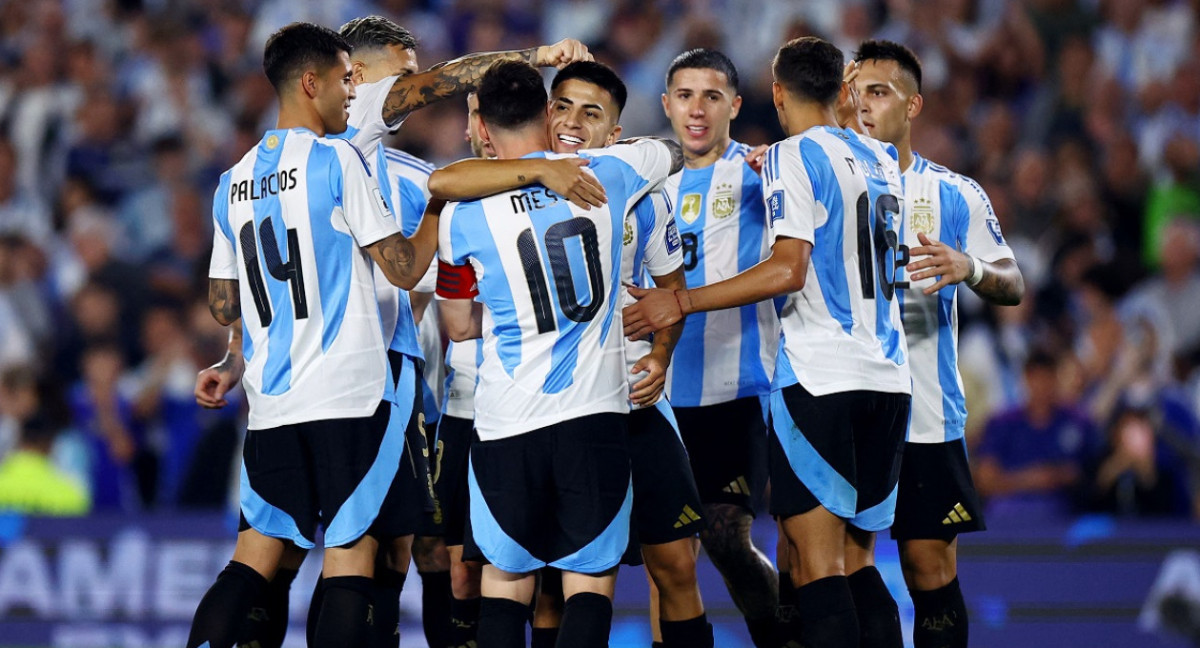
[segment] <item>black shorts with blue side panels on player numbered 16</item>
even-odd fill
[[[863,530],[890,527],[910,404],[907,394],[773,391],[772,515],[820,505]]]

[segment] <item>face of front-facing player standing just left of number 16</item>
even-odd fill
[[[730,121],[738,116],[742,97],[724,72],[684,67],[671,77],[662,109],[689,158],[720,156],[730,140]]]

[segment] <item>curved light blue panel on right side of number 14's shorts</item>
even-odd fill
[[[337,509],[334,520],[325,528],[325,546],[337,547],[347,545],[362,536],[374,523],[379,515],[388,490],[396,479],[396,472],[404,455],[404,431],[408,421],[413,418],[413,407],[416,401],[418,376],[416,365],[413,359],[404,358],[400,368],[400,377],[392,384],[396,385],[394,400],[388,402],[388,431],[384,432],[379,442],[379,450],[374,462],[367,469],[350,497],[346,498],[342,506]],[[391,383],[392,376],[389,367],[388,379]]]

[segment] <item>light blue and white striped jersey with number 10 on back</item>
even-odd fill
[[[443,211],[439,258],[472,266],[486,307],[475,389],[482,440],[629,412],[622,232],[636,202],[666,180],[671,151],[641,140],[580,155],[592,158],[587,168],[604,185],[607,205],[580,209],[532,185]]]

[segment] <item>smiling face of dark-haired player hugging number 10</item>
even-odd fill
[[[620,134],[617,118],[617,102],[607,90],[566,79],[550,97],[550,145],[560,154],[607,146]]]

